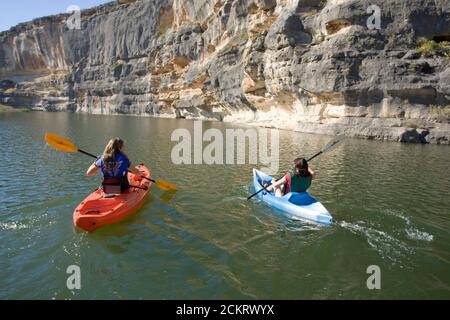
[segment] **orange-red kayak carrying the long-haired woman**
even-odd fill
[[[151,178],[149,170],[142,164],[137,169],[142,176]],[[75,226],[92,232],[105,225],[121,221],[144,204],[152,183],[140,176],[128,173],[131,188],[122,194],[105,194],[102,188],[95,190],[81,202],[73,213]]]

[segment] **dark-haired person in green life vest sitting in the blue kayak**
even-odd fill
[[[282,197],[289,192],[306,192],[315,177],[316,173],[309,168],[308,162],[303,158],[297,158],[294,160],[294,169],[288,171],[280,180],[273,182],[266,190],[269,192],[274,190],[276,197]]]

